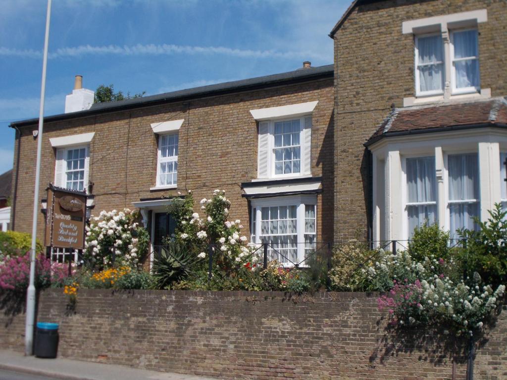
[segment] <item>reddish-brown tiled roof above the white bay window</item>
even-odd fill
[[[370,137],[367,145],[400,133],[421,133],[453,128],[497,125],[507,126],[507,100],[395,108]]]

